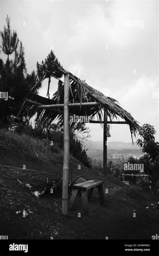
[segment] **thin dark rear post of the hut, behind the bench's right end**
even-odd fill
[[[104,111],[104,127],[103,127],[103,189],[104,189],[104,199],[107,200],[107,120],[108,115]]]

